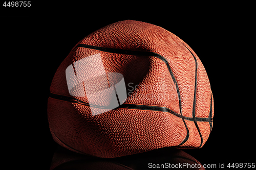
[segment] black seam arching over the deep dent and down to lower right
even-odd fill
[[[169,70],[169,73],[170,73],[170,76],[172,77],[173,79],[173,82],[175,84],[175,87],[176,87],[176,90],[177,90],[177,94],[178,94],[178,99],[179,99],[179,107],[180,107],[180,114],[182,115],[182,109],[181,109],[181,95],[180,95],[180,90],[179,90],[179,86],[178,86],[178,83],[174,77],[174,74],[173,74],[173,71],[172,69],[170,68],[170,65],[168,63],[168,61],[161,55],[157,54],[157,53],[154,53],[154,52],[145,52],[145,51],[131,51],[131,50],[123,50],[123,49],[117,49],[117,48],[108,48],[108,47],[100,47],[100,46],[93,46],[93,45],[87,45],[87,44],[77,44],[76,47],[74,48],[74,50],[77,48],[77,47],[84,47],[84,48],[89,48],[89,49],[93,49],[93,50],[98,50],[98,51],[102,51],[102,52],[106,52],[106,53],[117,53],[117,54],[125,54],[125,55],[136,55],[136,56],[153,56],[153,57],[157,57],[159,58],[160,60],[162,60],[168,70]],[[186,127],[186,137],[184,138],[184,140],[179,144],[183,144],[185,143],[188,138],[189,138],[189,130],[187,128],[187,125],[185,123],[185,120],[183,120],[183,123]]]

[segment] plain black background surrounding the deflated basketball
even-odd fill
[[[255,162],[252,19],[249,10],[241,11],[247,5],[32,3],[32,7],[1,7],[7,159],[21,160],[19,165],[26,168],[49,168],[56,143],[49,130],[47,99],[55,71],[83,37],[132,19],[180,37],[207,71],[215,102],[214,126],[203,148],[183,151],[202,164]]]

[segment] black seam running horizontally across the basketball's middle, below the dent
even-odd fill
[[[96,108],[102,108],[102,109],[108,109],[107,107],[103,107],[103,106],[97,106],[97,105],[90,105],[89,103],[83,102],[79,99],[75,99],[69,96],[64,96],[64,95],[59,95],[59,94],[54,94],[54,93],[50,93],[50,98],[53,99],[57,99],[57,100],[61,100],[61,101],[66,101],[66,102],[71,102],[71,103],[76,103],[76,104],[80,104],[83,106],[88,106],[88,107],[96,107]],[[176,113],[173,110],[170,110],[167,107],[163,107],[163,106],[150,106],[150,105],[136,105],[136,104],[122,104],[119,107],[115,108],[115,109],[135,109],[135,110],[151,110],[151,111],[160,111],[160,112],[168,112],[168,113],[172,113],[173,115],[180,117],[182,119],[185,120],[190,120],[190,121],[194,121],[193,117],[186,117],[183,115],[180,115],[178,113]],[[198,122],[209,122],[208,117],[196,117],[196,120]]]

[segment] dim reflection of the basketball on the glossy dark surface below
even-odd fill
[[[162,165],[161,165],[162,164]],[[188,165],[189,164],[189,165]],[[118,158],[97,158],[81,155],[57,147],[50,169],[151,169],[162,166],[165,168],[200,169],[194,157],[175,148],[162,148],[146,153],[123,156]],[[192,166],[192,167],[191,167]]]

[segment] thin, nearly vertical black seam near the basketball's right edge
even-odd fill
[[[185,46],[186,47],[186,46]],[[187,48],[187,47],[186,47]],[[198,133],[200,135],[200,138],[201,138],[201,143],[199,145],[198,148],[200,148],[203,144],[203,136],[200,132],[200,129],[198,127],[198,124],[197,124],[197,119],[196,119],[196,98],[197,98],[197,69],[198,69],[198,63],[197,63],[197,59],[196,57],[194,56],[194,54],[187,48],[187,50],[191,53],[191,55],[194,57],[195,59],[195,65],[196,65],[196,70],[195,70],[195,90],[194,90],[194,102],[193,102],[193,120],[194,120],[194,123],[195,123],[195,126],[197,127],[197,130],[198,130]]]

